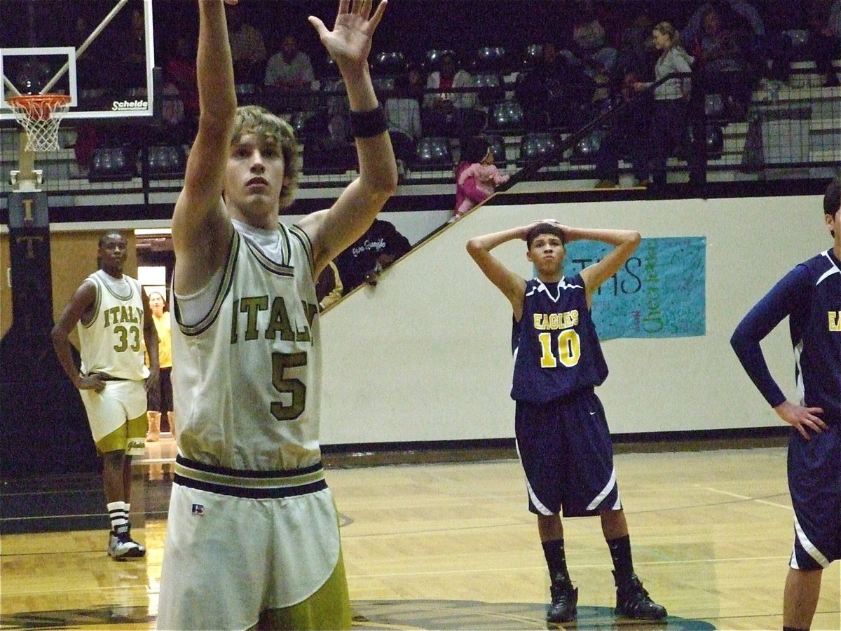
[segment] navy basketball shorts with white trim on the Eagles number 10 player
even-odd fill
[[[514,428],[529,511],[588,517],[622,507],[611,433],[594,391],[548,403],[517,401]]]

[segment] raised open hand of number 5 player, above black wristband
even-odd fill
[[[333,30],[327,29],[315,15],[309,16],[309,24],[315,27],[342,75],[361,69],[367,63],[373,32],[383,19],[387,4],[388,0],[380,0],[371,16],[373,0],[340,0]]]

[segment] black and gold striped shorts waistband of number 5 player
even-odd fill
[[[251,471],[215,467],[177,455],[172,480],[191,489],[251,499],[304,496],[327,488],[320,462],[303,469]]]

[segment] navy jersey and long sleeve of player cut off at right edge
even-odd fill
[[[770,406],[785,400],[759,342],[789,318],[795,378],[801,400],[823,408],[824,421],[841,421],[841,263],[832,250],[802,262],[745,315],[731,343]]]

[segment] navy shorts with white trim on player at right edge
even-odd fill
[[[788,481],[794,507],[794,549],[789,565],[820,570],[841,558],[841,419],[805,440],[792,427]]]

